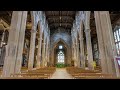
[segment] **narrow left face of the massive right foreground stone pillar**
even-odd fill
[[[106,61],[105,50],[104,50],[104,38],[101,30],[102,27],[100,22],[101,18],[99,16],[99,11],[95,11],[94,15],[95,15],[97,38],[98,38],[99,59],[101,62],[102,73],[108,73],[107,61]]]

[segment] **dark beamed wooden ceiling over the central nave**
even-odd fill
[[[51,33],[54,33],[58,28],[71,32],[76,11],[45,11],[45,14]]]

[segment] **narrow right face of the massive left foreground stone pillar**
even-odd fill
[[[19,34],[19,41],[18,41],[18,51],[17,51],[17,58],[16,58],[16,66],[15,66],[15,73],[21,72],[21,65],[22,65],[22,53],[23,53],[23,46],[24,46],[24,37],[25,37],[25,29],[26,29],[26,20],[27,20],[27,11],[23,11],[23,17],[21,20],[21,28]]]

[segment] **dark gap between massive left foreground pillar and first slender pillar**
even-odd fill
[[[25,37],[24,37],[24,46],[22,53],[22,67],[21,70],[27,69],[29,51],[30,51],[30,37],[31,37],[31,13],[27,12],[26,28],[25,28]]]

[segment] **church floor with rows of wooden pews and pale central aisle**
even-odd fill
[[[0,79],[120,79],[112,74],[102,74],[98,70],[85,70],[82,68],[47,67],[33,70],[24,69],[19,74],[11,77],[0,77]]]

